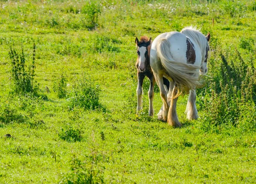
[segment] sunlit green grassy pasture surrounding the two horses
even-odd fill
[[[0,1],[0,183],[255,183],[254,0]],[[135,38],[211,34],[199,119],[173,128]]]

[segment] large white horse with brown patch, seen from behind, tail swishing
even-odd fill
[[[200,29],[192,26],[181,32],[160,34],[154,39],[151,44],[150,65],[163,101],[157,114],[159,120],[167,121],[171,126],[181,126],[176,104],[183,92],[189,92],[186,118],[198,118],[195,89],[203,85],[199,75],[206,75],[208,70],[209,40],[210,33],[205,37]],[[171,82],[169,92],[164,88],[163,77]]]

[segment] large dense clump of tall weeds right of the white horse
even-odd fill
[[[244,62],[237,49],[229,54],[218,52],[211,59],[207,86],[200,91],[199,105],[204,110],[202,119],[206,125],[239,126],[247,116],[245,109],[255,109],[256,70],[253,61]],[[255,110],[250,112],[256,118]],[[255,120],[254,120],[255,121]],[[253,122],[251,122],[253,123]],[[255,123],[253,129],[256,129]]]

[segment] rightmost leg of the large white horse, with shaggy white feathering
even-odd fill
[[[189,100],[186,106],[186,115],[189,120],[197,119],[198,118],[198,111],[195,106],[196,101],[196,92],[195,89],[189,90]]]

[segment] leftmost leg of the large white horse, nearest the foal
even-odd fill
[[[167,101],[167,92],[163,85],[163,76],[160,76],[160,77],[157,76],[156,81],[157,81],[157,85],[159,86],[160,95],[163,101],[163,106],[158,112],[157,116],[159,120],[167,121],[169,103]]]

